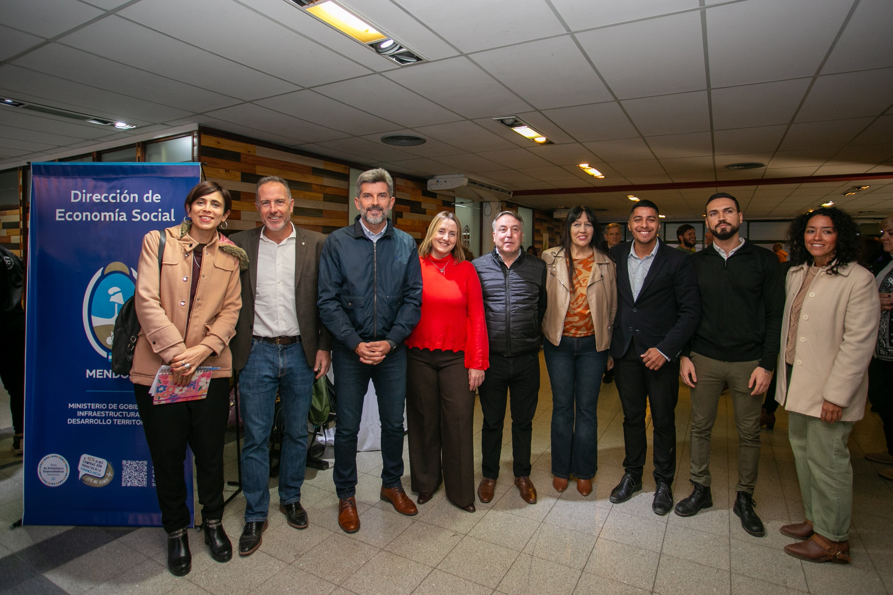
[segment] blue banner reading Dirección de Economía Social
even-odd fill
[[[179,223],[199,168],[31,165],[25,525],[161,525],[133,384],[112,373],[112,331],[143,236]],[[191,456],[184,472],[192,512]]]

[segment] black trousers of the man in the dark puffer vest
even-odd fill
[[[505,398],[512,411],[512,468],[515,477],[530,475],[530,437],[539,396],[537,350],[506,357],[490,351],[490,367],[478,388],[484,426],[480,434],[484,477],[498,479],[505,422]]]

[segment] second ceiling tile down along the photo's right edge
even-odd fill
[[[893,68],[819,77],[798,122],[880,116],[893,103]]]

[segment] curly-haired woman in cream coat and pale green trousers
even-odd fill
[[[800,215],[789,235],[775,398],[788,410],[806,518],[781,533],[805,540],[785,546],[791,556],[844,564],[853,504],[847,438],[865,412],[880,300],[872,273],[855,262],[858,230],[846,212]]]

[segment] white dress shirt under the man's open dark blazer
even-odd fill
[[[290,222],[291,236],[276,244],[261,231],[257,246],[257,286],[255,287],[254,335],[296,336],[295,244],[297,233]]]

